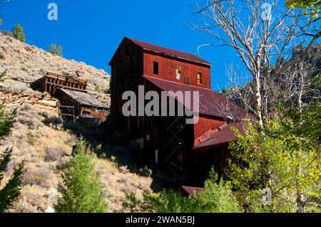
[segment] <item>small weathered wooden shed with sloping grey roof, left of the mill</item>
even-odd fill
[[[60,88],[57,97],[60,100],[59,115],[64,118],[77,119],[86,125],[99,125],[108,116],[108,105],[88,93]]]

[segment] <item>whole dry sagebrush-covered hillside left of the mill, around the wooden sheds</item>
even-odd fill
[[[108,95],[104,93],[109,85],[106,72],[53,56],[0,33],[0,73],[4,70],[6,79],[0,83],[0,99],[14,103],[7,108],[17,108],[18,116],[11,137],[0,142],[0,153],[6,147],[13,147],[14,151],[2,183],[9,179],[15,163],[23,160],[26,163],[22,195],[11,212],[44,212],[53,206],[52,195],[80,134],[91,142],[96,154],[96,171],[101,174],[109,211],[121,208],[126,193],[139,196],[151,189],[152,179],[146,169],[128,168],[126,162],[121,161],[126,157],[126,147],[109,144],[108,135],[101,136],[96,129],[76,122],[62,122],[53,108],[46,109],[30,101],[30,97],[41,95],[29,88],[30,83],[43,76],[46,70],[70,75],[81,70],[88,80],[90,93],[108,102]],[[21,97],[30,102],[20,101]]]

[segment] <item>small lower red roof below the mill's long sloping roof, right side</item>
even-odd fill
[[[235,141],[236,136],[235,133],[232,130],[232,127],[235,127],[241,134],[245,133],[245,124],[244,122],[234,122],[230,125],[227,125],[227,127],[223,127],[222,130],[218,130],[218,132],[215,132],[209,139],[205,140],[204,142],[201,142],[197,146],[195,146],[193,149],[201,149],[204,147],[215,147],[218,144],[225,144],[230,141]]]

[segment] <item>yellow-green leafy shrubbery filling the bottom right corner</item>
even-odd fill
[[[308,115],[305,123],[315,122]],[[320,212],[315,202],[321,196],[320,137],[312,127],[275,116],[264,129],[248,120],[245,135],[235,133],[238,140],[230,149],[238,162],[230,161],[228,176],[235,189],[246,195],[241,199],[250,211]]]

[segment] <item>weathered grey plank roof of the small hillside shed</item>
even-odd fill
[[[108,105],[103,104],[103,102],[99,101],[96,99],[96,97],[93,97],[93,95],[89,95],[88,93],[81,93],[75,90],[67,90],[63,88],[60,88],[60,90],[81,105],[109,109]]]

